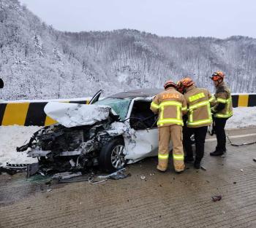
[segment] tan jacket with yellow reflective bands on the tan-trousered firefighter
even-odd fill
[[[181,125],[182,116],[187,113],[187,103],[184,95],[178,93],[173,87],[156,95],[151,103],[150,109],[158,113],[157,126]]]

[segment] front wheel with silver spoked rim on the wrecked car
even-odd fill
[[[102,147],[99,154],[99,168],[108,173],[124,168],[127,163],[124,157],[124,140],[115,138]]]

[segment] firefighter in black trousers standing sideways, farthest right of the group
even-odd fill
[[[225,125],[227,119],[233,115],[232,97],[230,90],[226,87],[224,82],[225,74],[222,71],[214,72],[210,77],[216,87],[215,98],[217,103],[211,108],[214,114],[214,130],[217,136],[217,146],[211,156],[220,156],[226,152],[226,134]]]

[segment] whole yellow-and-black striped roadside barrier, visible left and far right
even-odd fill
[[[232,94],[233,107],[256,106],[256,94]],[[89,98],[48,101],[5,101],[0,103],[0,125],[47,126],[56,123],[44,108],[49,101],[88,104]]]

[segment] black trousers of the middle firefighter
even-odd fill
[[[204,154],[207,128],[207,126],[186,128],[186,130],[184,131],[184,149],[186,152],[186,157],[193,157],[190,137],[192,134],[195,134],[195,160],[197,162],[200,162],[202,160]]]

